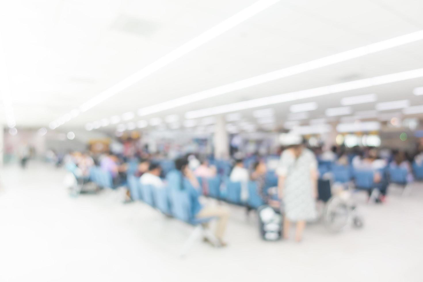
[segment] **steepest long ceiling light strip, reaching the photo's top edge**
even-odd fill
[[[225,19],[224,21],[220,22],[214,27],[211,27],[206,32],[200,34],[199,36],[191,39],[187,43],[171,51],[167,55],[154,61],[148,66],[142,68],[140,71],[137,71],[136,73],[130,75],[126,79],[116,83],[112,87],[104,90],[103,92],[89,99],[88,101],[86,101],[84,104],[80,106],[80,111],[86,112],[87,110],[90,110],[96,105],[102,103],[103,101],[109,99],[110,97],[116,95],[117,93],[125,90],[129,86],[135,84],[136,82],[139,82],[141,79],[148,77],[150,74],[153,74],[159,69],[172,63],[174,60],[177,60],[180,57],[191,52],[192,50],[197,49],[201,45],[211,41],[213,38],[216,38],[217,36],[220,36],[222,33],[225,33],[231,28],[236,27],[240,23],[246,21],[247,19],[250,19],[255,14],[260,13],[261,11],[265,10],[266,8],[269,8],[270,6],[274,5],[275,3],[279,1],[280,0],[259,0],[255,2],[253,5],[250,5],[249,7],[244,8],[242,11],[239,11],[238,13],[229,17],[228,19]]]

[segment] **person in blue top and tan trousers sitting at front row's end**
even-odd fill
[[[190,195],[192,214],[197,218],[205,217],[216,217],[217,227],[215,235],[219,240],[220,246],[226,246],[223,240],[225,234],[226,225],[229,219],[228,208],[222,206],[203,206],[200,203],[199,197],[201,196],[200,184],[194,173],[188,167],[187,159],[176,159],[175,161],[176,170],[169,172],[168,181],[170,185],[176,185],[177,188],[185,190]]]

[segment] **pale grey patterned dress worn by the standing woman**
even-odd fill
[[[316,157],[310,150],[304,148],[297,159],[289,149],[282,152],[277,174],[285,177],[283,203],[287,219],[297,222],[316,218],[311,180],[316,170]]]

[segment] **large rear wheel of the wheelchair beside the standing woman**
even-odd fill
[[[330,199],[323,212],[323,221],[326,228],[332,232],[341,231],[348,223],[349,208],[339,197]]]

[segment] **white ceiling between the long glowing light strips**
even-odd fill
[[[166,55],[255,0],[15,0],[0,4],[0,40],[17,126],[48,126],[66,112]],[[423,30],[420,0],[283,0],[63,125],[121,115],[309,60]],[[194,102],[151,117],[183,113],[340,82],[423,68],[423,40]],[[410,99],[423,79],[276,104],[316,101],[324,117],[340,99],[376,93]],[[1,96],[0,96],[1,97]],[[372,110],[375,103],[352,106]],[[251,120],[252,110],[242,115]],[[389,112],[389,111],[388,111]],[[397,111],[392,111],[397,112]],[[0,114],[0,123],[6,123]],[[110,126],[110,129],[114,127]]]

